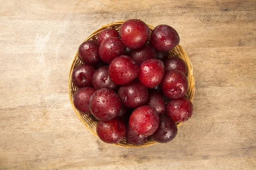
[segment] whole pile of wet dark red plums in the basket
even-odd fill
[[[101,31],[96,40],[79,46],[84,64],[73,69],[76,109],[97,121],[96,132],[106,143],[140,145],[149,137],[160,143],[175,138],[175,122],[185,122],[193,111],[186,63],[168,57],[180,42],[167,25],[149,28],[142,20],[126,20],[120,34]],[[148,43],[149,42],[149,43]]]

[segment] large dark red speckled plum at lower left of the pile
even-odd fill
[[[90,111],[96,119],[107,121],[121,110],[119,96],[108,88],[101,88],[90,97]]]

